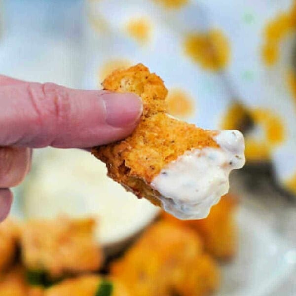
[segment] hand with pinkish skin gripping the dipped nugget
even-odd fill
[[[74,90],[0,75],[0,221],[12,203],[9,187],[31,166],[32,148],[90,148],[127,137],[143,107],[134,94]]]

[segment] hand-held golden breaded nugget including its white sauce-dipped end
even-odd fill
[[[163,81],[142,64],[113,72],[103,87],[133,92],[144,104],[131,136],[93,148],[108,175],[180,219],[206,217],[227,193],[230,171],[244,164],[242,134],[203,130],[168,115]]]

